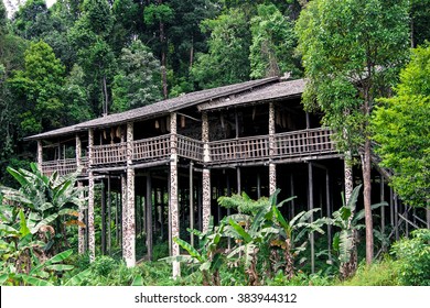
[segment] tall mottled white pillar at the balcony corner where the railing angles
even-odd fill
[[[172,237],[172,255],[180,254],[179,245],[173,241],[180,237],[180,212],[178,202],[178,122],[176,113],[170,114],[170,212],[171,212],[171,237]],[[181,276],[179,262],[173,262],[173,277]]]

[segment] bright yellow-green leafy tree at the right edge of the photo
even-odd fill
[[[374,140],[380,165],[394,172],[390,178],[402,200],[430,206],[430,46],[412,50],[400,73],[396,95],[380,99],[374,112]]]

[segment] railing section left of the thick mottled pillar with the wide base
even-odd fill
[[[93,147],[93,165],[111,165],[127,161],[127,143],[95,145]]]

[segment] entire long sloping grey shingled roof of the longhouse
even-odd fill
[[[257,90],[256,90],[257,88]],[[186,94],[176,98],[162,100],[152,105],[136,108],[129,111],[109,114],[79,124],[32,135],[25,140],[41,140],[60,135],[74,134],[90,128],[105,128],[123,124],[130,121],[144,120],[161,117],[183,108],[198,106],[198,110],[227,108],[229,106],[244,105],[255,101],[281,99],[300,95],[304,89],[304,80],[279,82],[278,77],[269,77],[258,80],[235,84],[202,91]],[[245,92],[245,94],[244,94]],[[239,95],[232,98],[234,95]]]

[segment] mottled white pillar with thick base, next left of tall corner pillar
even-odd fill
[[[123,258],[128,267],[136,265],[136,226],[135,226],[135,169],[132,164],[133,123],[127,123],[127,218],[126,237],[122,242]]]

